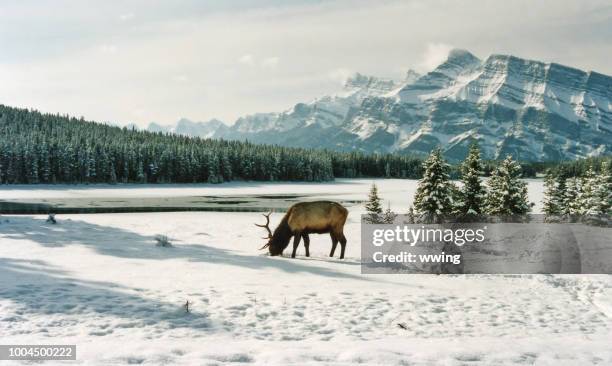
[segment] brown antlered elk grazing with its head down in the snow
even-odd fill
[[[264,214],[266,223],[255,224],[268,231],[268,242],[259,249],[268,248],[270,255],[281,255],[291,237],[293,238],[293,252],[291,258],[295,258],[295,252],[300,245],[300,239],[304,239],[306,256],[310,257],[310,238],[308,234],[329,233],[332,239],[330,257],[334,256],[336,246],[340,242],[340,259],[344,258],[346,248],[346,237],[344,236],[344,223],[348,216],[348,210],[341,204],[330,201],[300,202],[291,206],[278,227],[272,233],[270,230],[270,215]]]

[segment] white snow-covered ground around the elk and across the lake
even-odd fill
[[[0,197],[363,199],[371,182],[22,186]],[[407,209],[413,182],[377,184]],[[539,201],[541,183],[529,188]],[[57,225],[2,216],[0,343],[77,344],[87,365],[612,364],[610,276],[362,275],[361,211],[350,208],[345,260],[327,257],[324,235],[312,236],[310,258],[303,247],[296,259],[268,257],[259,213],[62,215]],[[157,247],[156,234],[174,247]]]

